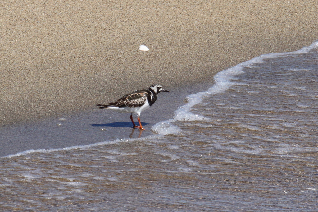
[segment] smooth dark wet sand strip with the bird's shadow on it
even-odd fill
[[[173,117],[184,97],[206,91],[212,83],[193,84],[160,93],[150,109],[141,113],[145,130],[133,129],[129,113],[99,110],[64,113],[42,121],[10,124],[0,128],[0,158],[18,152],[89,145],[113,139],[142,138],[152,135],[152,126]],[[137,123],[136,115],[134,121]]]

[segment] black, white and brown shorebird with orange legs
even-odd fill
[[[167,90],[162,89],[162,86],[159,84],[154,84],[150,86],[148,89],[137,90],[131,92],[130,94],[124,95],[116,102],[110,102],[106,104],[96,104],[99,109],[109,109],[114,110],[120,113],[131,113],[130,120],[133,123],[134,128],[139,128],[140,130],[144,130],[142,128],[140,122],[140,113],[143,110],[147,110],[153,103],[157,100],[157,94],[161,91],[169,92]],[[133,114],[137,114],[137,119],[139,122],[139,126],[137,126],[133,120]]]

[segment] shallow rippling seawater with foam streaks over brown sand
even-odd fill
[[[1,211],[317,211],[317,70],[267,58],[161,135],[1,158]]]

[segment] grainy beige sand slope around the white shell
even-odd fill
[[[306,0],[1,1],[0,123],[93,108],[152,83],[212,81],[310,45],[317,11]]]

